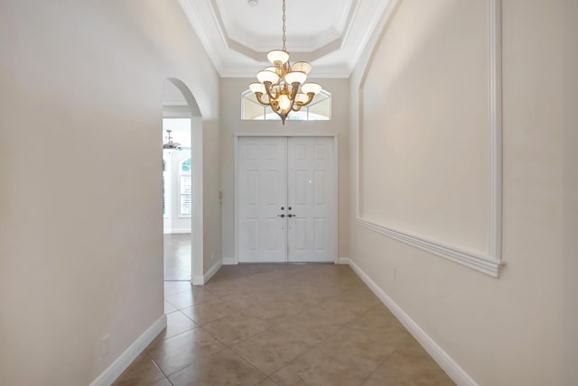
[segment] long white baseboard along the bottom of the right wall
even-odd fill
[[[440,345],[435,343],[432,337],[427,335],[427,333],[418,326],[417,323],[415,323],[415,321],[409,317],[409,315],[407,315],[406,312],[400,308],[396,302],[368,276],[366,272],[362,271],[355,262],[350,259],[340,258],[340,263],[346,263],[346,260],[350,264],[351,269],[358,274],[359,278],[368,285],[369,289],[371,289],[373,293],[375,293],[376,296],[386,305],[386,307],[389,308],[401,324],[406,327],[407,331],[409,331],[411,335],[414,335],[415,340],[424,347],[425,351],[432,356],[433,360],[442,367],[443,371],[446,372],[450,378],[452,378],[452,381],[454,381],[458,386],[478,386],[478,383],[476,383],[476,381],[474,381]]]

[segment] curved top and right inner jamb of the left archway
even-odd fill
[[[191,277],[188,280],[195,284],[203,276],[202,115],[191,90],[178,78],[166,78],[163,82],[163,121],[165,119],[190,122]],[[183,161],[186,164],[186,160],[178,160],[178,165],[182,166]]]

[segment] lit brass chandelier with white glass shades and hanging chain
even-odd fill
[[[283,124],[292,111],[307,106],[322,87],[317,83],[304,83],[312,69],[306,61],[297,61],[292,66],[289,52],[285,47],[285,0],[283,0],[283,49],[269,51],[267,60],[274,66],[267,67],[256,74],[258,82],[251,83],[249,89],[255,93],[256,100],[263,106],[271,106]]]

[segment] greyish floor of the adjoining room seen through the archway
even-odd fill
[[[164,280],[191,280],[191,234],[164,234]]]

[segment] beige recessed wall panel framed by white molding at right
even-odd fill
[[[361,218],[489,253],[488,21],[485,1],[402,2],[359,91]]]

